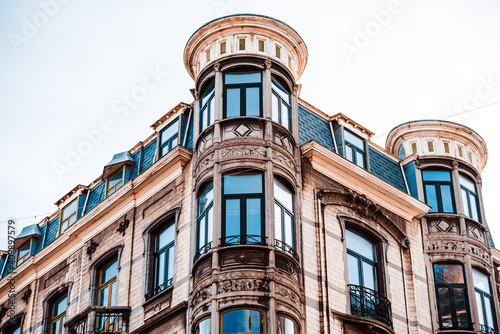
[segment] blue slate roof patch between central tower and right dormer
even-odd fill
[[[311,140],[335,151],[328,121],[299,104],[299,145]]]

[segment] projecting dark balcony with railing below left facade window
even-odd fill
[[[127,334],[130,307],[90,306],[66,322],[68,334]]]

